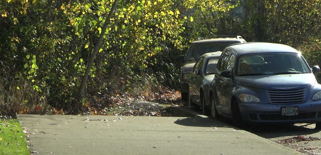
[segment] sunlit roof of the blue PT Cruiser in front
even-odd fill
[[[239,43],[227,46],[227,48],[234,49],[238,55],[267,52],[291,52],[298,54],[300,53],[299,51],[288,45],[267,42]]]

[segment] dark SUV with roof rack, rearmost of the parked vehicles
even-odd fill
[[[185,63],[182,66],[180,73],[182,100],[187,101],[187,77],[193,69],[197,59],[205,53],[223,51],[225,47],[237,43],[246,43],[246,40],[241,36],[202,37],[192,43],[185,59],[182,55],[176,58],[178,62]]]

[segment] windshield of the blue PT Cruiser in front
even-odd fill
[[[238,59],[238,76],[311,73],[300,54],[271,52],[242,55]]]

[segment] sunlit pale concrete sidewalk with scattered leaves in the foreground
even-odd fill
[[[39,152],[33,153],[34,155],[49,155],[51,152],[56,155],[301,154],[210,118],[155,116],[88,116],[87,118],[65,115],[17,115],[17,117],[22,126],[29,128],[30,144],[33,145],[30,149]]]

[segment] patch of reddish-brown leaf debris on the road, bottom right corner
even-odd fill
[[[304,136],[295,136],[292,138],[286,138],[282,140],[275,140],[275,139],[270,139],[270,140],[305,154],[321,155],[321,148],[307,146],[309,142],[320,141],[321,138],[311,137],[311,136],[309,136],[308,138],[305,138]]]

